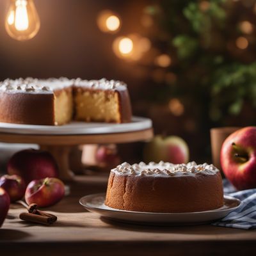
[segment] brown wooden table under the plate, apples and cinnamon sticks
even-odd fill
[[[106,191],[107,179],[106,175],[76,177],[70,195],[47,208],[58,216],[51,227],[19,220],[24,209],[13,204],[0,228],[0,255],[255,255],[253,230],[129,225],[86,212],[79,198]]]

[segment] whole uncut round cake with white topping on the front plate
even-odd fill
[[[105,204],[139,212],[197,212],[223,206],[220,171],[212,164],[122,163],[111,170]]]

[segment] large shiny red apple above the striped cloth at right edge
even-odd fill
[[[256,188],[256,127],[230,134],[221,147],[220,163],[225,176],[237,189]]]

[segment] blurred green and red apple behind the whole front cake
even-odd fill
[[[157,135],[145,145],[143,150],[145,162],[159,161],[173,164],[188,163],[189,148],[187,143],[178,136],[168,136],[164,138]]]

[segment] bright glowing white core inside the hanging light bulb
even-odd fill
[[[15,12],[15,28],[19,31],[28,29],[28,10],[26,0],[17,0]],[[9,19],[9,18],[8,18]]]

